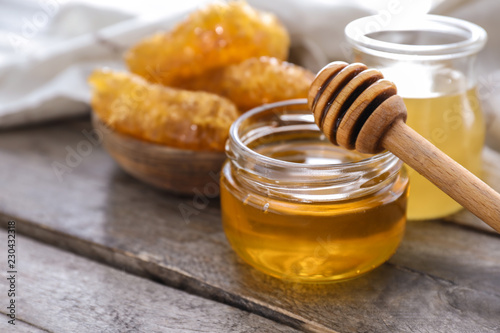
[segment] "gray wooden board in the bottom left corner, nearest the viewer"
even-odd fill
[[[6,239],[0,231],[2,249]],[[296,332],[19,235],[17,248],[19,320],[13,326],[2,316],[2,332]],[[1,279],[2,295],[7,289]]]

